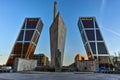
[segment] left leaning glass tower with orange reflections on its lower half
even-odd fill
[[[40,18],[25,19],[6,65],[14,66],[16,58],[33,58],[42,28]]]

